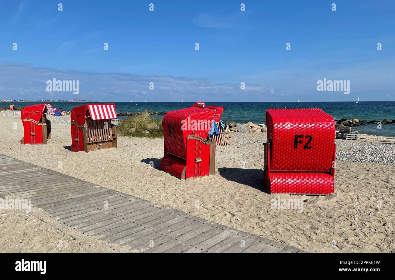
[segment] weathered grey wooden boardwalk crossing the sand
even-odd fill
[[[139,252],[299,252],[122,192],[0,154],[0,196],[33,207],[88,236]],[[303,251],[304,252],[304,251]]]

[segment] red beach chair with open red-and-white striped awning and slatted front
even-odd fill
[[[71,151],[96,151],[117,147],[117,118],[114,103],[87,104],[74,107],[71,118]]]

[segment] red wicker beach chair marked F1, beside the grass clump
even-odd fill
[[[223,110],[198,102],[190,108],[168,112],[162,120],[164,157],[160,168],[179,179],[214,175],[216,144],[207,136]]]

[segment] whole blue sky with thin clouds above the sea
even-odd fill
[[[0,99],[395,101],[394,15],[392,0],[2,1]]]

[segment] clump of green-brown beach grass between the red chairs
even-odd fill
[[[163,137],[162,120],[146,109],[137,116],[119,121],[117,132],[123,136],[161,138]]]

